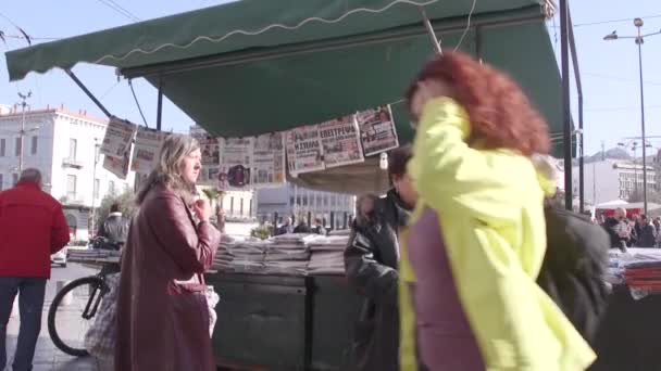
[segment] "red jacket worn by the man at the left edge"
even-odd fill
[[[62,205],[36,183],[0,192],[0,277],[50,278],[50,255],[67,243]]]

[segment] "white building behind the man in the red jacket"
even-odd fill
[[[21,128],[25,119],[23,151]],[[0,188],[13,187],[23,168],[37,168],[43,177],[43,190],[59,200],[75,240],[87,240],[92,209],[109,194],[119,194],[134,186],[134,175],[120,179],[107,171],[99,146],[107,120],[71,112],[64,107],[40,111],[3,107],[0,111]]]

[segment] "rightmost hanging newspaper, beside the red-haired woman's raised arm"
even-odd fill
[[[386,152],[399,146],[397,129],[389,105],[356,114],[360,127],[360,140],[365,156]]]

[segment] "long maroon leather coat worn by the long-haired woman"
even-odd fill
[[[122,261],[116,371],[215,370],[204,287],[175,281],[197,281],[220,241],[211,223],[196,227],[172,191],[159,186],[147,194]]]

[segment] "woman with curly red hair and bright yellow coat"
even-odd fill
[[[407,93],[420,194],[402,251],[402,370],[584,370],[596,356],[536,279],[548,129],[506,74],[457,52]],[[419,359],[415,355],[419,355]]]

